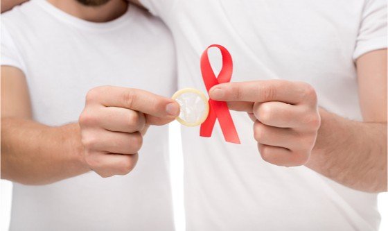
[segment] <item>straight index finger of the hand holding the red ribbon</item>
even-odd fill
[[[281,101],[297,104],[316,98],[310,85],[288,80],[256,80],[250,82],[221,83],[209,91],[211,99],[217,101],[269,102]]]

